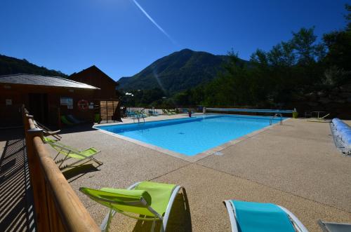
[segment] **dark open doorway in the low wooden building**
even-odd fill
[[[48,123],[48,95],[46,93],[29,93],[29,114],[40,123]]]

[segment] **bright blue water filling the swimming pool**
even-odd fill
[[[279,119],[272,123],[278,123]],[[96,128],[194,156],[270,125],[267,116],[206,115]]]

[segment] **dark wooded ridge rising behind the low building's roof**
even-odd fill
[[[27,60],[17,59],[6,55],[0,55],[0,75],[6,74],[38,74],[43,76],[62,76],[61,71],[46,69],[46,67],[39,67],[35,64],[29,63]]]

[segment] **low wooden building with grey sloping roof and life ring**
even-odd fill
[[[59,114],[93,122],[94,97],[99,88],[69,79],[33,74],[0,76],[0,127],[22,125],[25,104],[41,123],[58,125]],[[79,102],[87,103],[81,107]]]

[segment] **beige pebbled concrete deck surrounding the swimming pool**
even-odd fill
[[[181,117],[185,115],[146,121]],[[329,123],[289,119],[225,147],[222,156],[211,154],[193,162],[92,128],[63,130],[62,142],[102,151],[96,156],[104,162],[100,167],[87,164],[65,172],[97,224],[107,208],[84,196],[79,187],[126,188],[143,180],[180,184],[187,190],[186,204],[179,196],[174,205],[169,231],[230,231],[222,200],[232,198],[282,205],[310,231],[320,231],[317,219],[351,221],[351,157],[341,156],[334,146]],[[49,146],[48,151],[55,154]],[[150,223],[121,214],[112,220],[112,231],[149,228]]]

